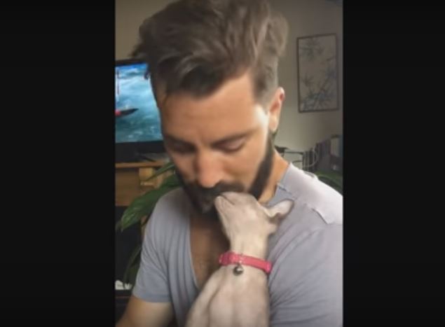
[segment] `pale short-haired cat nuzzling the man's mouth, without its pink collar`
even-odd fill
[[[247,193],[223,193],[214,202],[230,241],[230,251],[266,260],[268,237],[292,210],[283,200],[263,207]],[[186,327],[268,326],[267,274],[250,265],[222,265],[207,280],[193,303]]]

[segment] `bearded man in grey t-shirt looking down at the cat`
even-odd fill
[[[118,326],[184,326],[228,250],[214,209],[225,191],[267,206],[294,201],[268,241],[269,326],[341,326],[342,197],[273,147],[285,20],[263,0],[180,0],[139,32],[134,55],[149,64],[165,148],[184,187],[151,215]]]

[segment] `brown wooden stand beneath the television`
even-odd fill
[[[136,197],[160,186],[167,174],[149,179],[167,160],[117,162],[115,164],[115,205],[128,207]]]

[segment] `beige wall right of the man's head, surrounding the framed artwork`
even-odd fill
[[[343,7],[325,0],[273,0],[273,7],[289,22],[287,53],[280,62],[280,84],[286,91],[280,129],[275,139],[279,146],[306,150],[331,134],[343,130]],[[338,36],[338,72],[340,110],[299,113],[296,73],[296,38],[313,34],[336,33]]]

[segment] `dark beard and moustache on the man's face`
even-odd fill
[[[266,183],[271,176],[273,165],[273,138],[269,132],[266,140],[266,153],[263,160],[257,169],[256,176],[252,185],[247,190],[247,193],[251,194],[259,199],[263,194]],[[203,216],[208,216],[212,219],[217,219],[217,209],[214,207],[214,200],[224,192],[245,192],[245,188],[240,182],[226,183],[221,181],[212,188],[203,188],[198,183],[187,183],[181,172],[177,171],[179,182],[182,184],[186,194],[189,196],[193,207]]]

